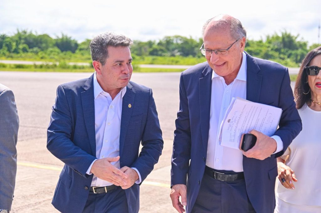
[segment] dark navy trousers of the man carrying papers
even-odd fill
[[[225,174],[234,174],[216,170]],[[244,179],[220,181],[204,173],[192,213],[255,213]]]

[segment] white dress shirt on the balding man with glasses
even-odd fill
[[[241,150],[223,147],[219,144],[218,135],[222,119],[233,97],[246,99],[246,54],[242,53],[242,64],[238,75],[232,83],[226,85],[223,77],[212,73],[212,93],[210,110],[210,129],[208,135],[206,166],[218,170],[243,171],[243,153]],[[277,143],[276,152],[283,149],[279,136],[273,135]],[[274,153],[276,153],[274,152]]]

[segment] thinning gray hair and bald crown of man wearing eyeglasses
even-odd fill
[[[222,15],[222,14],[214,16],[212,19],[209,19],[204,23],[203,30],[202,30],[203,37],[204,37],[204,32],[205,32],[205,29],[206,29],[207,25],[213,19],[217,19],[219,17],[221,17],[221,18],[219,20],[215,21],[215,24],[213,25],[212,28],[218,28],[219,29],[219,28],[224,28],[224,27],[229,26],[231,36],[234,39],[240,39],[242,37],[245,37],[245,42],[246,42],[246,30],[243,27],[242,23],[238,19],[236,19],[236,18],[234,18],[232,16]]]

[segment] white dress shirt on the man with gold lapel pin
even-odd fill
[[[96,158],[112,158],[119,156],[119,136],[120,136],[120,121],[123,97],[126,93],[126,86],[120,90],[114,100],[111,99],[109,93],[105,92],[99,85],[94,73],[94,103],[95,103],[95,133],[96,133]],[[97,160],[96,159],[96,160]],[[87,174],[90,172],[92,164],[87,170]],[[111,162],[116,168],[120,168],[119,160],[117,162]],[[141,182],[141,176],[136,168],[139,176],[137,184]],[[95,175],[92,178],[91,186],[108,186],[112,185],[108,181],[102,180]]]

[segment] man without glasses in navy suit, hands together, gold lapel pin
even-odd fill
[[[130,81],[131,44],[110,32],[96,36],[95,73],[57,88],[47,148],[65,163],[52,200],[61,212],[139,210],[139,185],[163,140],[152,90]]]

